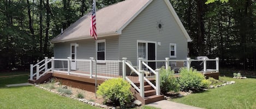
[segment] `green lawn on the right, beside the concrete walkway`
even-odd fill
[[[236,81],[234,85],[222,86],[202,93],[194,93],[172,101],[202,108],[256,108],[256,79],[233,79],[221,77],[225,81]]]

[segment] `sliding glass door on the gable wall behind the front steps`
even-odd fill
[[[156,43],[138,42],[138,57],[142,57],[144,60],[156,60]],[[156,69],[156,62],[148,62],[147,64],[152,69]]]

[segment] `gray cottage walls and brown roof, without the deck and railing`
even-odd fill
[[[138,57],[159,60],[186,59],[192,41],[168,0],[126,0],[96,12],[98,40],[90,36],[91,13],[59,34],[54,57],[66,59],[122,60],[133,65]],[[151,65],[154,66],[154,65]]]

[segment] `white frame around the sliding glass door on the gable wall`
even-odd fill
[[[139,53],[138,53],[138,43],[146,43],[146,57],[145,57],[145,60],[147,60],[147,56],[148,56],[148,48],[147,48],[147,43],[154,43],[154,47],[155,47],[155,59],[154,60],[157,60],[157,42],[156,41],[144,41],[144,40],[137,40],[137,49],[136,49],[136,52],[137,52],[137,66],[138,66],[138,61],[139,61]]]

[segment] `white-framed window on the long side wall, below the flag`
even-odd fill
[[[105,60],[105,42],[106,40],[96,42],[97,60]]]

